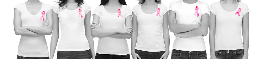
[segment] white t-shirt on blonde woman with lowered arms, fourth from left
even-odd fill
[[[157,16],[157,9],[153,14],[146,14],[141,9],[141,4],[133,7],[133,12],[137,16],[138,37],[136,49],[148,52],[165,51],[164,38],[162,35],[163,15],[167,12],[167,7],[158,4],[160,16]]]

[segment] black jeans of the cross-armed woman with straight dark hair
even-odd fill
[[[130,55],[95,54],[95,59],[130,59]]]

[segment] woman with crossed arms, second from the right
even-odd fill
[[[168,24],[176,39],[172,59],[206,59],[206,36],[209,25],[209,6],[197,0],[172,2]]]

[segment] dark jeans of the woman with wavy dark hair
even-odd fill
[[[57,59],[91,59],[91,51],[57,51]]]

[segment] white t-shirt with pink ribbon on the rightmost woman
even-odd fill
[[[235,14],[241,8],[240,16]],[[243,49],[241,38],[242,18],[249,12],[245,3],[239,2],[235,11],[225,11],[220,2],[211,4],[210,11],[216,15],[215,50]]]

